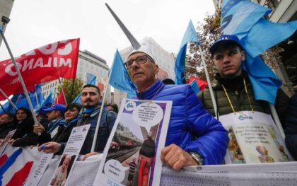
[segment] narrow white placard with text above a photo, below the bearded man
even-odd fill
[[[89,128],[90,124],[84,124],[72,129],[61,160],[59,161],[57,169],[54,171],[54,175],[52,176],[49,185],[66,185],[67,178],[69,178],[69,174],[74,167],[74,162],[81,151],[81,147],[83,146],[83,142],[86,139]]]

